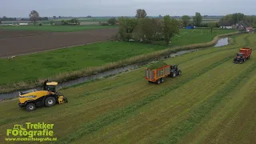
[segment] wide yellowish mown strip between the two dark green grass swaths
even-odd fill
[[[222,76],[221,74],[224,72],[223,68],[225,68],[226,65],[230,67],[228,71],[231,73],[226,73]],[[76,143],[155,143],[154,141],[143,142],[141,140],[142,138],[161,138],[163,136],[161,133],[164,133],[165,130],[170,130],[171,126],[174,126],[177,122],[182,122],[182,119],[188,118],[188,110],[199,106],[199,104],[209,98],[211,94],[214,94],[214,91],[216,91],[216,89],[218,90],[218,87],[222,85],[223,82],[226,82],[223,80],[218,81],[218,78],[223,78],[226,75],[226,80],[231,80],[238,74],[238,72],[234,71],[239,70],[232,65],[233,64],[230,64],[230,62],[225,62],[221,66],[210,70],[207,74],[201,75],[200,78],[187,82],[186,85],[182,85],[176,90],[171,90],[165,97],[159,98],[149,105],[141,107],[129,118],[122,118],[118,120],[118,122],[106,126],[95,134],[82,137],[76,141]],[[218,75],[218,78],[209,77],[209,75],[212,74],[215,74],[215,76]],[[206,79],[208,79],[208,81],[206,81]],[[202,85],[202,83],[200,83],[201,81],[202,83],[206,82],[206,85]],[[216,83],[218,84],[216,85]],[[206,86],[209,87],[207,88]],[[194,87],[193,90],[190,89],[191,87]],[[191,93],[189,91],[191,91]],[[198,94],[196,91],[198,91]],[[210,91],[210,94],[208,91]],[[167,127],[169,127],[169,129]]]

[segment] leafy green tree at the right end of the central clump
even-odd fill
[[[178,21],[174,18],[170,18],[170,15],[166,15],[163,17],[162,21],[162,34],[165,37],[166,45],[168,46],[170,43],[170,38],[174,36],[174,34],[178,34]]]

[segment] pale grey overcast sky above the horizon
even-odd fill
[[[256,14],[256,0],[0,0],[0,17],[28,17],[37,10],[52,16],[134,16],[137,9],[149,16]]]

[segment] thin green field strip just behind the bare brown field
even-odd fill
[[[74,32],[114,28],[115,26],[0,26],[0,30],[40,30],[54,32]]]

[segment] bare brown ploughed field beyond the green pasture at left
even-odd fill
[[[65,33],[0,30],[0,58],[105,41],[117,32],[116,28]]]

